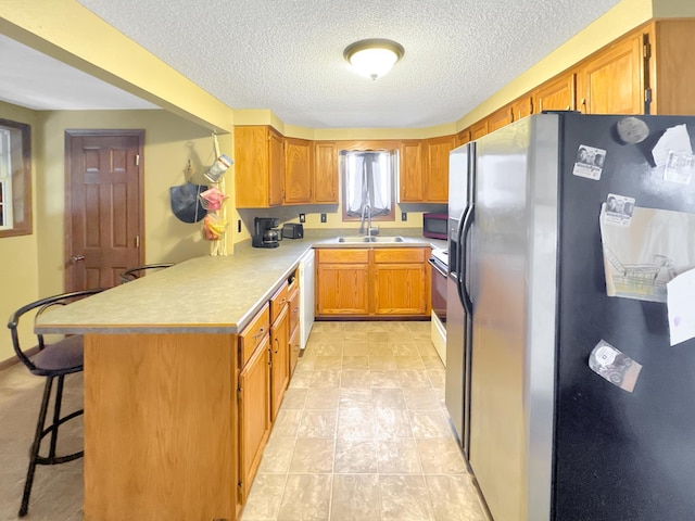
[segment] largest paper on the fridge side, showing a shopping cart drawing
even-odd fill
[[[622,226],[604,203],[599,224],[608,296],[666,302],[667,282],[695,268],[695,214],[635,206]]]

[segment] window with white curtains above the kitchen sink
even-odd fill
[[[343,220],[394,220],[397,151],[341,150]]]

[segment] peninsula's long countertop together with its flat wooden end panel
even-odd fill
[[[309,247],[193,258],[40,318],[85,335],[85,520],[237,519],[238,334]]]

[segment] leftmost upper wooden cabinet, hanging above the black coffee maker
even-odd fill
[[[265,125],[235,128],[235,201],[238,208],[282,204],[282,136]]]

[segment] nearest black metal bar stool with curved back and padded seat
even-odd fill
[[[22,507],[20,508],[21,518],[26,516],[29,509],[29,496],[31,494],[36,466],[59,465],[73,461],[74,459],[81,458],[85,452],[80,450],[79,453],[68,454],[65,456],[58,456],[55,454],[59,427],[84,412],[84,409],[80,409],[61,417],[61,403],[63,401],[63,383],[65,376],[83,370],[83,336],[66,336],[61,341],[49,344],[45,342],[42,334],[37,333],[38,344],[35,347],[37,347],[38,351],[36,354],[30,356],[29,353],[27,353],[27,350],[23,350],[20,345],[20,334],[17,332],[20,319],[26,313],[36,309],[36,313],[34,314],[34,320],[36,320],[36,317],[51,306],[70,304],[71,302],[84,298],[88,295],[93,295],[101,291],[103,291],[103,289],[75,291],[72,293],[63,293],[41,298],[40,301],[27,304],[14,312],[8,322],[8,328],[12,334],[12,345],[14,346],[14,351],[20,360],[22,360],[33,374],[36,374],[37,377],[46,377],[41,409],[36,424],[34,443],[31,444],[31,449],[29,452],[29,468],[26,473],[24,495],[22,496]],[[55,403],[53,406],[53,421],[50,425],[46,427],[46,416],[48,414],[48,404],[51,397],[51,390],[53,387],[53,379],[58,379]],[[51,434],[48,456],[39,456],[41,440],[48,434]]]

